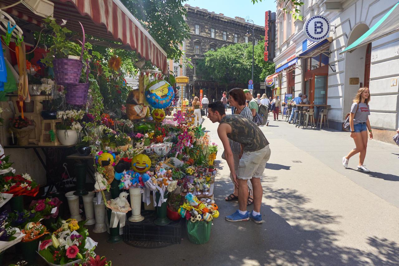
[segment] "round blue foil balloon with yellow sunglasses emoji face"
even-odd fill
[[[164,80],[155,80],[148,84],[145,95],[147,102],[154,108],[166,108],[174,98],[173,87]]]

